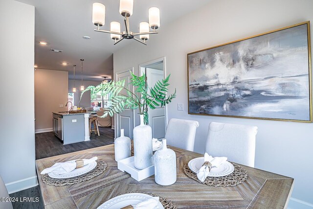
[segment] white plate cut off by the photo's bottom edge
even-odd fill
[[[108,200],[97,209],[121,209],[129,205],[135,206],[138,203],[145,201],[149,198],[152,198],[152,196],[142,193],[122,194],[112,198],[111,200]],[[164,209],[164,207],[160,202],[158,202],[157,206],[151,209]]]

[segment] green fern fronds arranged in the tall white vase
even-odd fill
[[[149,124],[148,107],[156,109],[156,107],[169,104],[176,97],[176,89],[174,93],[166,96],[168,92],[167,87],[170,85],[168,83],[170,75],[165,79],[157,81],[154,87],[149,88],[145,80],[145,74],[136,76],[133,72],[130,73],[130,84],[134,86],[134,93],[128,87],[125,87],[125,80],[121,80],[101,83],[96,87],[89,86],[82,92],[82,95],[87,91],[90,91],[91,95],[95,95],[96,93],[107,95],[110,93],[109,100],[111,100],[111,107],[104,112],[102,117],[106,117],[108,114],[113,116],[114,113],[123,112],[125,108],[139,109],[139,114],[144,115],[145,123]]]

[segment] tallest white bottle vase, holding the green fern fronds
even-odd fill
[[[140,125],[134,127],[134,166],[144,169],[153,165],[152,129],[145,125],[143,115],[140,115]]]

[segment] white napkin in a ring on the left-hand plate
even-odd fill
[[[98,158],[93,157],[91,159],[84,160],[84,165],[96,161]],[[65,163],[55,163],[51,167],[45,168],[40,174],[54,173],[54,174],[65,174],[76,168],[76,162],[65,162]]]

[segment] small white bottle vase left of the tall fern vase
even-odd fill
[[[115,161],[131,157],[131,139],[124,136],[124,129],[121,129],[121,136],[114,141]]]

